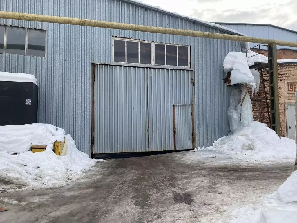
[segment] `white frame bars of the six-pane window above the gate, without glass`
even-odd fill
[[[125,62],[118,62],[114,61],[114,40],[121,40],[125,41]],[[127,62],[127,41],[131,42],[138,42],[138,63],[129,63]],[[140,63],[140,43],[149,43],[151,45],[151,63],[150,64],[142,64]],[[158,65],[155,64],[155,44],[162,44],[165,45],[165,65]],[[167,64],[167,55],[166,55],[166,45],[173,45],[176,47],[176,61],[177,65],[166,65]],[[183,46],[188,48],[188,66],[178,66],[178,46]],[[114,64],[127,64],[127,65],[143,65],[143,66],[150,66],[150,67],[173,67],[173,68],[191,68],[191,46],[189,45],[180,45],[180,44],[172,44],[172,43],[159,43],[159,42],[153,42],[153,41],[144,41],[144,40],[133,40],[129,38],[121,38],[121,37],[112,37],[112,62]]]

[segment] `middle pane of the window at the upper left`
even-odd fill
[[[26,29],[7,26],[6,53],[25,55]]]

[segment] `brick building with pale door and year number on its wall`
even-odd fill
[[[268,75],[263,74],[264,83],[260,78],[258,94],[251,97],[255,121],[270,125],[264,89],[269,99]],[[264,88],[266,86],[266,88]],[[278,65],[279,114],[282,136],[295,137],[295,91],[297,89],[297,63],[282,63]]]

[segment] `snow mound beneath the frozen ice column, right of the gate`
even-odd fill
[[[224,136],[210,147],[197,150],[215,151],[232,155],[234,158],[294,159],[296,144],[292,139],[279,136],[266,124],[252,122],[232,135]]]

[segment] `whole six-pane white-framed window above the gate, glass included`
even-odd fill
[[[190,67],[190,47],[113,38],[113,62]]]

